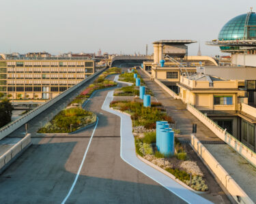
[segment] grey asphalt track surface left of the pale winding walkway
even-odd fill
[[[98,115],[94,137],[93,126],[74,135],[37,138],[37,126],[31,123],[33,146],[0,176],[0,203],[61,203],[79,167],[66,203],[185,203],[122,160],[120,118],[101,109],[107,92],[98,90],[85,106]],[[18,131],[12,137],[22,135],[22,129]]]

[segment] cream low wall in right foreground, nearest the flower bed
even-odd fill
[[[205,163],[210,167],[212,172],[218,177],[223,186],[227,189],[229,194],[237,203],[254,203],[250,197],[238,186],[235,180],[225,171],[225,169],[218,163],[218,161],[210,154],[210,152],[203,146],[203,144],[195,137],[191,135],[191,145],[194,150],[201,156]],[[240,200],[240,201],[239,201]]]

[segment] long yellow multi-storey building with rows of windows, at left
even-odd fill
[[[8,99],[45,101],[94,72],[94,60],[0,60],[0,92]]]

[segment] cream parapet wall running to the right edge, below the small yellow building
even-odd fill
[[[248,160],[251,165],[256,167],[256,154],[251,149],[247,148],[242,142],[238,139],[227,133],[220,126],[218,126],[215,122],[213,122],[210,118],[202,114],[198,109],[193,107],[193,105],[187,104],[188,111],[193,114],[198,120],[203,122],[205,126],[217,135],[220,139],[225,141],[233,150],[236,150],[242,157]]]

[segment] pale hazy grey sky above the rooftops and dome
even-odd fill
[[[153,41],[200,41],[202,55],[221,54],[217,39],[231,18],[255,0],[0,0],[0,52],[110,54],[153,52]],[[199,44],[188,46],[197,55]]]

